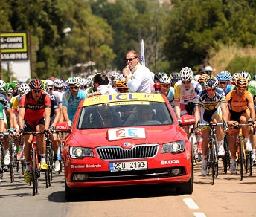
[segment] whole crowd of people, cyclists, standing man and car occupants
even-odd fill
[[[122,72],[114,71],[108,77],[105,73],[89,75],[87,78],[70,77],[63,81],[54,77],[47,80],[37,78],[26,82],[4,82],[0,80],[0,137],[4,139],[4,164],[10,164],[9,137],[23,132],[48,132],[54,151],[54,169],[60,170],[58,161],[58,146],[55,127],[63,120],[71,126],[77,106],[80,101],[102,94],[126,92],[142,92],[163,94],[169,100],[178,120],[185,114],[192,114],[198,123],[225,123],[224,127],[217,126],[218,155],[225,155],[223,138],[225,132],[229,135],[231,152],[230,172],[235,173],[235,139],[237,137],[237,123],[248,123],[252,118],[252,127],[243,126],[245,149],[252,152],[255,161],[255,97],[256,81],[251,80],[247,71],[240,71],[231,75],[222,71],[216,77],[211,75],[212,68],[206,67],[200,75],[194,76],[191,68],[185,67],[179,73],[164,72],[153,74],[139,63],[139,55],[135,51],[128,51],[125,57],[127,66]],[[254,77],[256,79],[256,77]],[[111,117],[107,111],[102,114]],[[150,111],[138,109],[141,119]],[[149,114],[150,116],[150,114]],[[151,120],[151,119],[148,119]],[[111,125],[109,125],[111,126]],[[189,133],[189,127],[184,126]],[[196,127],[199,152],[202,153],[202,175],[207,174],[208,127]],[[45,163],[46,144],[44,135],[38,135],[38,149],[40,153],[40,169],[48,169]],[[18,160],[25,158],[24,179],[29,183],[30,178],[30,147],[32,135],[24,135],[20,143],[16,141]]]

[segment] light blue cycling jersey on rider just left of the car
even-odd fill
[[[68,118],[70,120],[73,120],[74,114],[77,111],[77,107],[80,101],[83,99],[86,99],[86,94],[82,90],[77,92],[77,97],[73,97],[70,91],[66,91],[63,94],[63,107],[68,108]]]

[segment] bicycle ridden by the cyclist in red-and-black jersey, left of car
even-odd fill
[[[36,135],[39,135],[39,134],[45,134],[45,133],[44,132],[23,132],[23,135],[33,135],[33,140],[31,144],[31,166],[30,166],[31,181],[33,182],[33,196],[36,195],[36,193],[38,193],[38,178],[40,177],[40,172],[41,172],[39,169],[39,158],[38,158],[38,152],[36,147],[36,141],[37,141]],[[31,181],[30,181],[30,185],[31,185]]]

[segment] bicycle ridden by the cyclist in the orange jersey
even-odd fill
[[[251,152],[246,152],[244,146],[244,135],[243,135],[243,126],[252,126],[252,120],[249,120],[249,123],[238,124],[238,133],[237,133],[237,153],[236,153],[236,162],[237,162],[237,173],[238,173],[238,164],[239,164],[239,177],[240,181],[243,180],[243,163],[245,166],[246,174],[249,172],[249,175],[252,176],[252,155]],[[255,128],[253,129],[253,134],[255,134]],[[246,158],[244,158],[246,156]]]

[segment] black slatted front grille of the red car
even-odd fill
[[[123,149],[119,146],[96,148],[97,154],[102,160],[152,158],[156,155],[158,149],[159,144],[137,145],[131,149]]]

